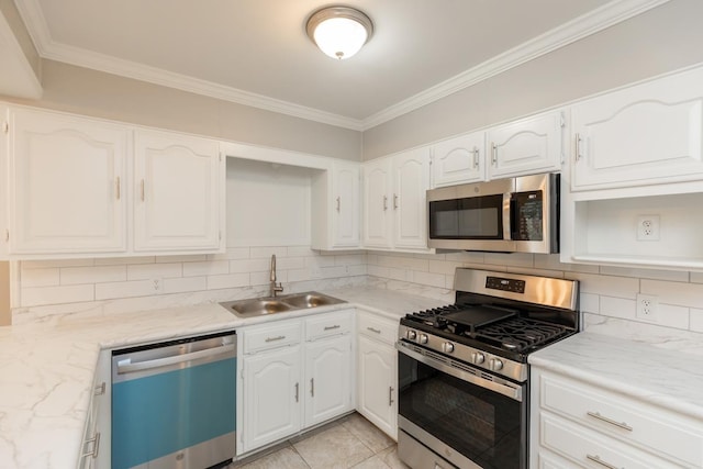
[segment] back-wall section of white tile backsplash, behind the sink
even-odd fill
[[[265,295],[271,255],[286,291],[366,280],[364,252],[236,247],[216,255],[19,261],[13,323],[53,314],[168,308]]]

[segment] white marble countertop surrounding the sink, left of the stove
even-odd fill
[[[352,306],[391,319],[442,300],[372,288],[323,290],[348,304],[249,320],[217,303],[119,314],[67,314],[0,327],[0,467],[76,468],[101,349],[168,340]]]

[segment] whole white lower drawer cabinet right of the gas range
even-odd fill
[[[531,399],[533,468],[703,467],[703,424],[687,415],[535,366]]]

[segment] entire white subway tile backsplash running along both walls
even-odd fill
[[[19,263],[13,322],[56,313],[167,308],[267,294],[271,254],[286,291],[373,284],[453,300],[454,271],[475,267],[577,279],[587,327],[633,338],[701,339],[703,273],[559,263],[558,255],[321,253],[308,246],[236,247],[224,254]],[[637,294],[658,312],[637,316]]]

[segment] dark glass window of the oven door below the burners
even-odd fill
[[[477,465],[527,467],[526,399],[514,401],[402,353],[399,386],[399,414]]]

